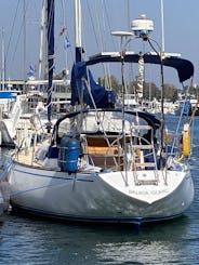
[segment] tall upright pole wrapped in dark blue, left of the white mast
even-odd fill
[[[49,67],[49,85],[48,85],[48,121],[51,129],[51,102],[52,102],[52,87],[53,87],[53,68],[54,68],[54,0],[48,0],[48,67]]]

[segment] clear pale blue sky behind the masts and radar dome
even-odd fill
[[[0,62],[3,62],[4,57],[5,79],[27,78],[30,66],[36,69],[38,76],[42,1],[0,0]],[[199,0],[162,0],[162,2],[164,50],[181,53],[183,58],[193,62],[194,83],[198,85]],[[64,68],[70,71],[75,59],[74,0],[55,0],[55,72]],[[155,30],[151,37],[161,45],[161,0],[81,0],[81,5],[82,43],[85,56],[102,50],[119,49],[118,40],[114,39],[110,32],[131,30],[131,21],[138,18],[141,14],[146,14],[154,21]],[[24,18],[26,18],[26,27],[24,27]],[[67,49],[65,39],[61,35],[63,27],[66,27],[70,43],[70,48]],[[136,41],[132,42],[132,50],[137,52],[141,49],[148,48],[145,48],[145,43],[141,45]],[[3,64],[0,63],[1,74]],[[168,72],[168,79],[170,83],[177,83],[176,74]]]

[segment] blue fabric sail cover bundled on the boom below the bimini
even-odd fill
[[[112,107],[116,103],[114,91],[108,91],[93,79],[85,62],[74,65],[71,71],[71,105],[84,104],[97,108]],[[92,96],[91,96],[92,94]]]

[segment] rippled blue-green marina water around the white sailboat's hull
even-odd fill
[[[178,117],[168,116],[170,127]],[[9,214],[0,223],[0,264],[199,264],[199,117],[190,169],[195,200],[182,217],[140,228],[82,225]]]

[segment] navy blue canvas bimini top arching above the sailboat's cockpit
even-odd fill
[[[123,62],[138,63],[141,55],[133,52],[125,52],[123,56]],[[143,55],[145,64],[161,65],[161,58],[159,55],[154,53],[145,53]],[[94,65],[98,63],[114,63],[121,62],[121,53],[119,52],[104,52],[90,57],[85,62],[87,65]],[[177,70],[180,82],[184,82],[194,76],[194,65],[190,61],[181,58],[176,55],[164,54],[162,56],[162,65],[172,67]]]

